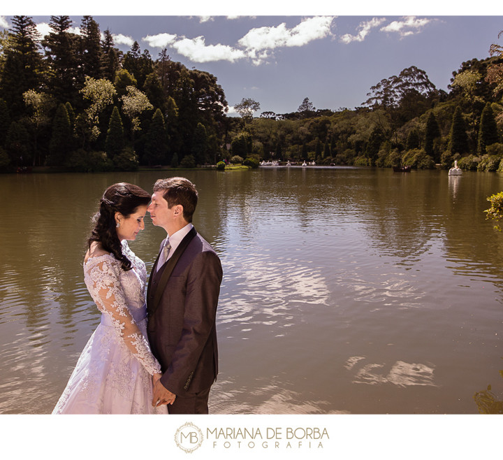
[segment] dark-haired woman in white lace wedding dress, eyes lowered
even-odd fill
[[[168,412],[166,405],[152,406],[152,382],[161,377],[161,366],[147,341],[147,273],[127,244],[145,228],[149,203],[150,194],[124,182],[103,194],[84,259],[85,284],[101,322],[53,414]]]

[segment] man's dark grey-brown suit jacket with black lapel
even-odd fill
[[[171,257],[175,254],[176,251]],[[152,268],[147,290],[150,347],[161,364],[163,386],[177,396],[190,396],[210,388],[217,378],[215,317],[221,263],[210,244],[196,234],[155,303],[159,281],[170,259],[156,272],[158,260]]]

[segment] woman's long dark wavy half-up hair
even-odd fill
[[[135,213],[138,206],[147,206],[150,198],[150,194],[137,185],[126,182],[110,185],[101,197],[99,211],[93,217],[94,229],[87,240],[89,248],[93,241],[98,241],[103,250],[114,254],[124,270],[131,270],[131,261],[122,254],[122,245],[117,236],[115,213],[129,217]]]

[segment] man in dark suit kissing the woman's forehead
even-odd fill
[[[147,289],[147,333],[162,377],[152,405],[170,414],[207,414],[217,378],[215,316],[222,279],[220,259],[191,224],[198,192],[185,178],[157,180],[148,207],[161,243]],[[174,402],[173,402],[174,401]]]

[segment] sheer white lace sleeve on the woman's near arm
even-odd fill
[[[93,299],[99,310],[110,316],[133,357],[143,364],[150,375],[161,373],[159,362],[150,351],[147,340],[126,305],[117,270],[120,270],[117,264],[102,261],[87,271]]]

